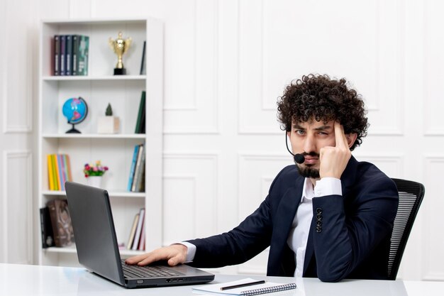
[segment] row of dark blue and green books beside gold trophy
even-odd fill
[[[89,36],[54,35],[55,76],[88,75]]]

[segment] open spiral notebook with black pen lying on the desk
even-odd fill
[[[257,280],[253,280],[252,278],[244,278],[243,280],[235,280],[233,282],[229,283],[221,283],[221,284],[214,284],[214,285],[203,285],[199,287],[193,287],[192,289],[194,292],[210,292],[210,293],[217,293],[221,295],[260,295],[260,294],[266,294],[271,292],[279,292],[284,290],[292,290],[296,289],[296,283],[271,283],[271,282],[265,282],[263,284],[259,285],[247,285],[244,287],[236,287],[233,289],[228,290],[222,290],[223,287],[231,287],[235,285],[245,285],[248,283],[256,282]]]

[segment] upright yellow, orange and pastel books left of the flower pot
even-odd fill
[[[48,154],[48,186],[50,190],[65,190],[65,182],[72,181],[70,155]]]

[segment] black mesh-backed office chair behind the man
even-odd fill
[[[414,225],[416,214],[424,197],[424,185],[418,182],[394,179],[399,192],[399,204],[392,239],[390,243],[388,276],[389,280],[396,280],[396,274],[401,264],[401,258]]]

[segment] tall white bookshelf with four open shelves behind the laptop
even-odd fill
[[[109,38],[132,38],[123,56],[127,75],[113,75],[117,57],[109,48]],[[87,76],[52,76],[52,38],[54,35],[89,36],[89,73]],[[140,75],[143,41],[146,40],[146,75]],[[133,218],[145,207],[147,249],[161,245],[162,224],[162,106],[163,106],[163,28],[162,23],[146,19],[56,20],[43,21],[40,30],[39,126],[38,126],[38,208],[55,198],[66,198],[63,191],[51,191],[48,185],[46,155],[70,155],[74,182],[87,183],[82,169],[85,163],[101,160],[109,166],[102,187],[108,190],[118,243],[128,240]],[[146,91],[146,133],[134,133],[141,92]],[[82,97],[88,115],[76,128],[80,134],[65,133],[71,128],[62,114],[63,103]],[[116,134],[97,133],[97,119],[111,103],[114,116],[120,118]],[[134,146],[145,143],[145,192],[128,192],[128,178]],[[38,209],[35,209],[38,211]],[[40,225],[35,229],[40,234]],[[75,246],[43,249],[38,241],[38,263],[75,265]],[[142,251],[122,250],[122,256]],[[74,262],[71,262],[74,261]]]

